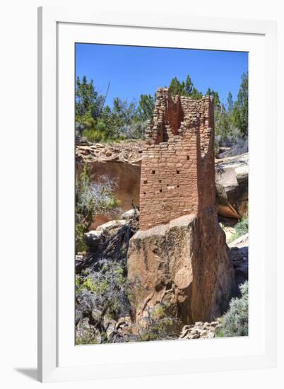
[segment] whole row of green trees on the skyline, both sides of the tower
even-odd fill
[[[187,75],[184,81],[174,77],[169,86],[172,95],[184,95],[194,99],[203,93]],[[247,144],[248,134],[248,74],[242,75],[237,100],[234,102],[229,92],[227,102],[221,102],[218,91],[208,88],[205,95],[211,95],[215,110],[216,151],[219,146],[233,146],[239,139]],[[155,96],[141,94],[138,103],[114,98],[112,108],[105,106],[107,93],[99,93],[93,80],[86,77],[76,80],[76,138],[90,142],[120,141],[123,139],[143,139],[146,123],[153,116]]]

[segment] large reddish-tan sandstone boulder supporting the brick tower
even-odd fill
[[[130,240],[128,277],[136,285],[136,320],[158,303],[183,324],[220,316],[235,278],[215,212],[138,231]]]

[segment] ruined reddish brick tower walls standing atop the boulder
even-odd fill
[[[215,209],[214,117],[211,98],[156,94],[142,154],[140,229]]]

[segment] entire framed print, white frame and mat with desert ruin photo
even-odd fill
[[[276,23],[38,31],[40,381],[275,366]]]

